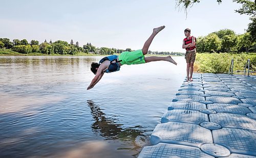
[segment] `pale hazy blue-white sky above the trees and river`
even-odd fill
[[[142,49],[153,28],[164,25],[153,40],[151,51],[185,52],[184,30],[195,37],[221,29],[243,34],[248,15],[235,13],[240,4],[232,0],[203,0],[187,9],[175,0],[0,0],[0,38],[45,39],[87,42],[96,48]]]

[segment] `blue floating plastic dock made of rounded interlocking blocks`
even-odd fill
[[[256,76],[193,79],[181,85],[138,157],[256,157]]]

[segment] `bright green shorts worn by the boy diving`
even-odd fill
[[[132,65],[132,64],[140,64],[145,63],[144,55],[142,50],[137,50],[133,52],[122,52],[119,55],[119,60],[122,60],[120,63]]]

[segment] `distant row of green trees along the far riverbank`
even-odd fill
[[[94,54],[103,54],[103,55],[113,55],[114,53],[122,53],[124,51],[131,52],[132,49],[127,48],[125,50],[115,49],[115,48],[96,48],[91,43],[84,44],[82,47],[79,46],[79,42],[74,43],[71,39],[70,43],[67,41],[57,40],[55,42],[44,42],[39,44],[37,40],[31,40],[30,42],[27,39],[19,40],[13,39],[10,41],[9,38],[0,38],[0,48],[10,49],[12,51],[28,54],[28,53],[41,53],[41,54],[60,54],[60,55],[75,55],[80,52],[82,53],[94,53]],[[148,54],[158,54],[158,55],[184,55],[184,53],[179,52],[152,52],[148,51]]]

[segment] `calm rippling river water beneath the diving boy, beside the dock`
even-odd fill
[[[102,57],[0,57],[0,157],[137,157],[186,76],[184,57],[122,65],[94,88]]]

